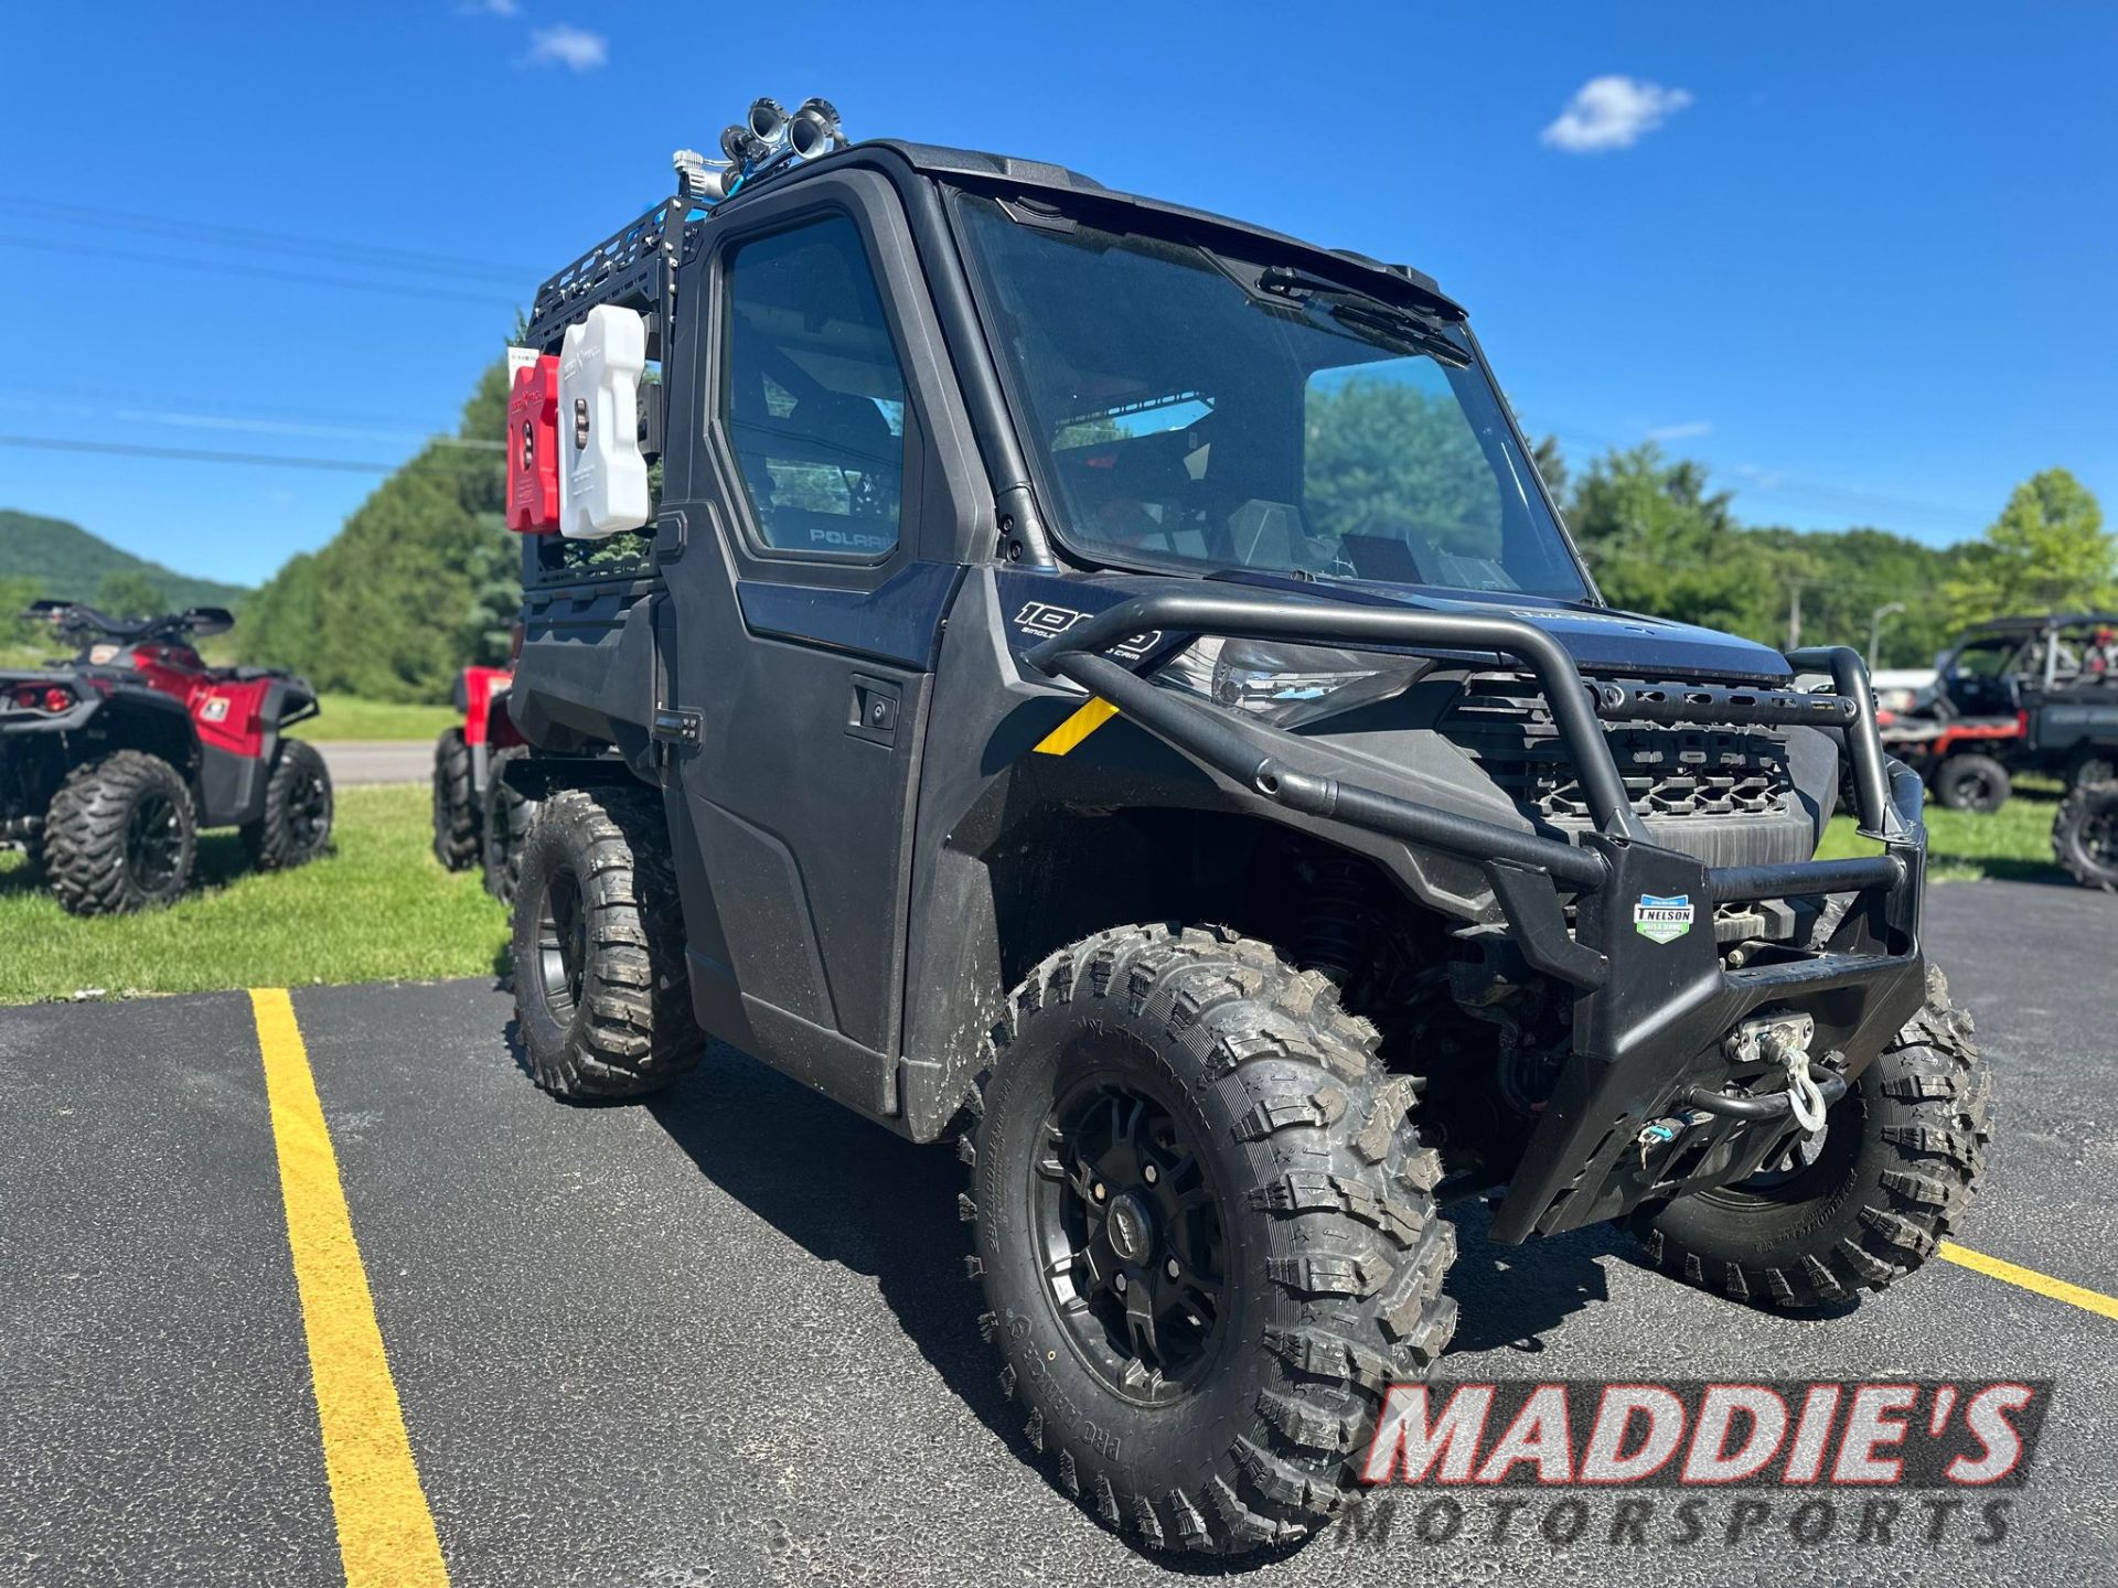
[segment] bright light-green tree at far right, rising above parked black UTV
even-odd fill
[[[1949,603],[1959,622],[2105,606],[2118,597],[2118,542],[2074,474],[2048,468],[2014,487],[1985,540],[1966,546]]]

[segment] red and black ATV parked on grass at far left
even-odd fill
[[[330,773],[284,730],[316,690],[265,667],[208,667],[193,637],[222,608],[108,618],[36,601],[76,646],[34,673],[0,671],[0,841],[30,851],[74,915],[167,904],[191,881],[199,828],[241,828],[250,862],[280,870],[330,843]]]

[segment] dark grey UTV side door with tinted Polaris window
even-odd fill
[[[968,430],[883,176],[818,174],[712,233],[680,282],[710,313],[657,612],[693,997],[716,1035],[892,1116]]]

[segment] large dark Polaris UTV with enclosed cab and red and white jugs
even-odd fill
[[[1851,650],[1610,610],[1413,269],[731,142],[517,354],[542,1086],[714,1035],[953,1137],[1029,1444],[1161,1548],[1351,1501],[1451,1198],[1771,1306],[1934,1253],[1987,1078]]]

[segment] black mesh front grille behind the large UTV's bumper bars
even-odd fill
[[[1561,826],[1588,822],[1588,800],[1533,680],[1480,673],[1442,720],[1464,750],[1525,813]],[[1605,726],[1627,798],[1641,817],[1777,817],[1794,777],[1771,728]]]

